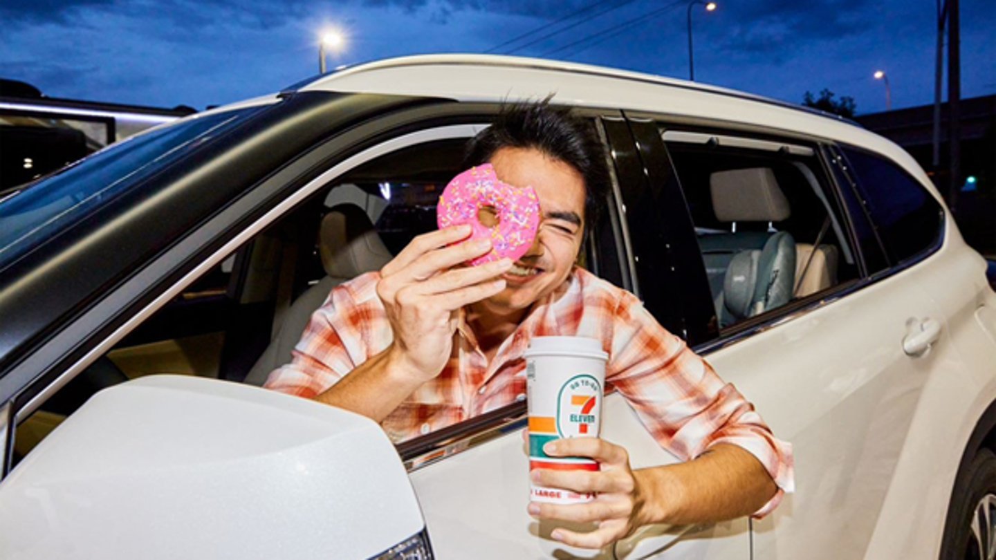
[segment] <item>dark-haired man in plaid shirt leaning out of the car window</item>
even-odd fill
[[[598,523],[554,538],[599,548],[648,523],[773,509],[793,487],[791,447],[635,296],[575,266],[609,184],[590,125],[546,103],[514,107],[471,140],[468,166],[484,162],[535,188],[542,216],[529,252],[467,267],[491,248],[466,241],[469,227],[416,237],[378,273],[333,290],[267,387],[366,415],[397,440],[524,399],[531,337],[597,338],[610,353],[607,385],[686,462],[632,470],[625,449],[603,439],[549,443],[551,455],[602,463],[531,473],[543,486],[598,492],[587,504],[529,505],[540,518]]]

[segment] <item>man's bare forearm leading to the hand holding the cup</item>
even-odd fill
[[[757,458],[720,443],[692,461],[633,471],[645,523],[688,525],[750,515],[778,491]]]

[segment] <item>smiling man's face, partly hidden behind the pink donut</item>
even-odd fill
[[[495,174],[540,199],[540,226],[529,251],[502,275],[506,288],[481,302],[498,314],[528,308],[561,286],[581,248],[585,179],[577,169],[533,148],[502,147],[491,157]]]

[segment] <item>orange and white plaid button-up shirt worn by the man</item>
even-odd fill
[[[311,318],[293,361],[270,374],[269,389],[308,399],[393,340],[376,295],[379,273],[337,286]],[[609,353],[606,389],[629,402],[662,447],[682,460],[720,442],[756,456],[778,484],[761,516],[794,487],[792,447],[777,439],[754,406],[680,338],[661,327],[636,296],[576,267],[566,289],[537,304],[491,363],[461,321],[449,361],[381,422],[394,441],[428,433],[526,399],[523,353],[534,336],[580,336]]]

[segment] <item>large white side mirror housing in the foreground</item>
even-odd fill
[[[98,393],[0,484],[0,558],[393,558],[424,527],[373,420],[199,378]]]

